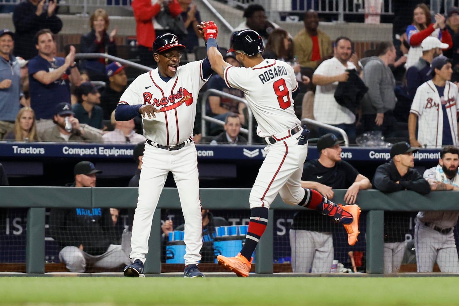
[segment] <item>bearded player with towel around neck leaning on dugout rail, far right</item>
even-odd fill
[[[459,190],[459,149],[448,145],[440,152],[438,165],[425,170],[432,191]],[[442,272],[459,273],[454,226],[458,211],[420,211],[414,226],[418,272],[432,272],[437,261]]]

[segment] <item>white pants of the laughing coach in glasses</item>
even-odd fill
[[[132,226],[130,257],[133,261],[140,259],[145,263],[153,213],[169,171],[172,172],[177,184],[185,218],[185,265],[197,265],[201,260],[199,252],[202,248],[202,216],[197,153],[194,143],[175,151],[145,145],[140,172],[139,198]]]

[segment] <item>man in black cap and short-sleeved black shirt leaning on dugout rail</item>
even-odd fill
[[[347,189],[344,200],[355,204],[359,190],[370,189],[368,178],[341,160],[344,141],[325,134],[317,142],[319,158],[303,167],[302,188],[316,189],[332,200],[333,189]],[[290,230],[291,267],[297,273],[329,273],[333,257],[332,232],[341,229],[337,223],[324,220],[315,211],[298,211]]]

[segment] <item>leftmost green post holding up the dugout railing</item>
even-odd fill
[[[27,212],[26,272],[45,273],[45,208]]]

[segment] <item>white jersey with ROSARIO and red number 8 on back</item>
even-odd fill
[[[301,124],[291,96],[298,83],[289,64],[265,59],[252,68],[228,66],[224,80],[228,87],[244,92],[258,123],[258,136],[273,136]]]

